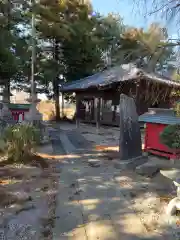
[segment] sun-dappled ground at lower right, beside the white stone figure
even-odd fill
[[[123,195],[129,199],[134,211],[152,237],[180,239],[178,224],[172,228],[165,214],[168,202],[176,194],[170,181],[160,174],[150,179],[130,171],[123,172],[120,177],[117,177],[117,181]]]

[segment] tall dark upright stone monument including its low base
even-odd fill
[[[138,114],[133,98],[120,95],[120,160],[116,161],[118,168],[136,168],[145,163],[148,158],[142,155],[142,143]]]

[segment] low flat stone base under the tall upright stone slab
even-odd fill
[[[148,161],[148,157],[140,156],[129,160],[116,160],[114,161],[114,167],[118,169],[135,169],[137,166],[142,165]]]

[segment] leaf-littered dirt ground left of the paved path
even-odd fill
[[[0,164],[0,239],[52,239],[59,172],[48,148],[44,164]]]

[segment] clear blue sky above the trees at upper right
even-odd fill
[[[152,15],[148,16],[146,14],[146,9],[144,6],[137,7],[133,0],[91,0],[94,10],[102,14],[108,14],[109,12],[114,12],[120,14],[124,20],[124,24],[147,28],[152,22],[160,22],[162,25],[168,28],[169,35],[172,38],[176,38],[177,30],[174,25],[167,23],[165,19],[163,20],[161,16]]]

